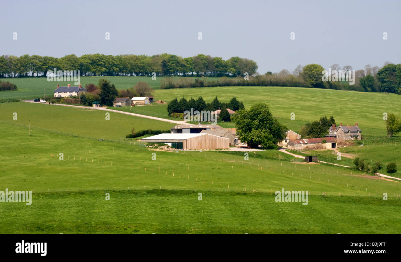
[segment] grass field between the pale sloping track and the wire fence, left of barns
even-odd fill
[[[27,102],[0,103],[0,112],[0,121],[28,125],[30,120],[31,127],[117,140],[125,139],[132,128],[135,128],[135,131],[155,127],[168,130],[174,126],[173,123],[113,112],[107,112],[110,114],[110,120],[106,120],[106,112],[92,108]],[[13,113],[17,113],[17,120],[13,120]]]

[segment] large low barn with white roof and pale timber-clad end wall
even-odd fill
[[[142,142],[160,142],[176,149],[229,149],[230,139],[211,134],[160,134],[141,139]]]

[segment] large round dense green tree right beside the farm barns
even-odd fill
[[[239,110],[231,120],[237,127],[239,139],[251,147],[261,145],[264,149],[275,149],[277,143],[286,138],[287,127],[273,117],[265,103],[256,103],[249,110]]]

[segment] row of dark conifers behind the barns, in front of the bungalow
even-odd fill
[[[231,98],[229,103],[225,102],[220,102],[219,99],[216,98],[211,102],[211,103],[206,103],[205,100],[203,100],[202,96],[199,96],[198,99],[190,98],[190,100],[186,100],[184,97],[178,101],[177,98],[174,98],[171,100],[168,105],[167,105],[167,112],[170,115],[171,113],[183,113],[184,111],[188,110],[191,111],[191,108],[193,108],[193,111],[202,111],[202,110],[210,110],[210,111],[215,111],[217,109],[226,109],[229,108],[233,111],[238,111],[241,109],[244,109],[244,104],[243,102],[239,102],[237,98],[233,97]],[[223,110],[222,110],[223,111]],[[227,110],[226,110],[227,111]],[[228,113],[228,111],[227,111]],[[223,113],[224,116],[224,113]]]

